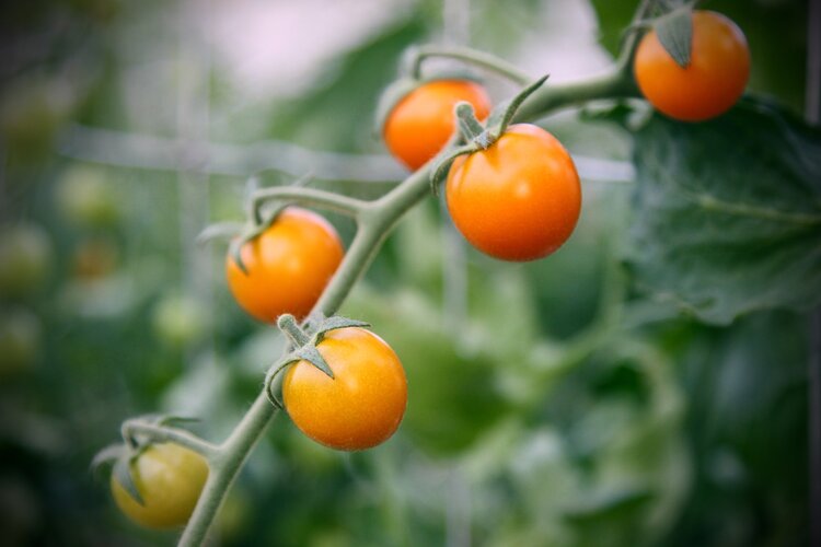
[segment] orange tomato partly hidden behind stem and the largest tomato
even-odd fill
[[[471,103],[479,120],[490,112],[485,90],[467,80],[432,81],[403,97],[384,126],[385,143],[394,158],[416,171],[438,154],[456,127],[453,107],[460,101]]]

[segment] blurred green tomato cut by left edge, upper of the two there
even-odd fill
[[[0,296],[21,298],[39,288],[51,254],[48,234],[36,224],[0,229]]]

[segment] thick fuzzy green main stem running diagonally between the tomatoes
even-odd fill
[[[525,101],[517,118],[533,120],[552,110],[580,102],[629,96],[634,94],[634,90],[635,85],[629,72],[616,67],[612,73],[604,77],[540,90]],[[259,200],[282,199],[315,205],[339,212],[355,212],[354,217],[358,223],[357,233],[339,269],[314,306],[312,315],[317,312],[325,316],[336,313],[357,280],[373,260],[391,230],[405,212],[428,195],[432,166],[451,154],[453,150],[454,144],[451,143],[437,158],[373,201],[360,201],[299,187],[270,188],[257,195]],[[277,409],[268,400],[264,388],[229,439],[218,446],[216,454],[210,458],[210,472],[203,493],[180,539],[181,547],[203,544],[226,493],[276,412]]]

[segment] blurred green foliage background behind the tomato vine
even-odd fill
[[[807,2],[704,3],[744,30],[751,89],[800,113]],[[127,522],[89,463],[144,412],[220,440],[258,393],[282,340],[233,303],[224,245],[195,244],[242,220],[250,175],[377,197],[405,175],[372,117],[406,47],[565,81],[612,62],[634,4],[3,2],[3,544],[175,542]],[[643,298],[621,266],[629,133],[578,112],[543,125],[583,179],[570,242],[502,264],[435,198],[410,212],[342,310],[403,360],[400,432],[344,454],[278,417],[212,545],[808,545],[806,317],[707,326]]]

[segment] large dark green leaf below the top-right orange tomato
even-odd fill
[[[636,133],[628,261],[702,321],[821,301],[821,132],[762,102]]]

